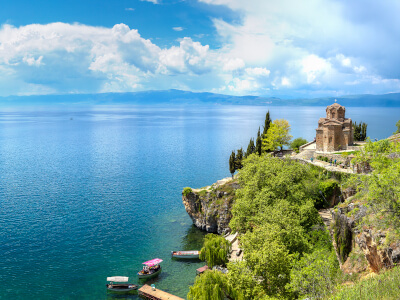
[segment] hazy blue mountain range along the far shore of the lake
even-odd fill
[[[219,104],[258,106],[327,106],[335,102],[348,107],[400,107],[400,93],[352,95],[311,99],[280,99],[259,96],[228,96],[180,90],[132,93],[66,94],[0,97],[0,106],[35,105],[113,105],[113,104]]]

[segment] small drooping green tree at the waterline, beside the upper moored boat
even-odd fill
[[[207,265],[210,268],[217,265],[225,265],[228,262],[230,249],[231,244],[224,237],[210,233],[204,238],[200,259],[207,261]]]

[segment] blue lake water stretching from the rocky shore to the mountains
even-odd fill
[[[0,299],[113,299],[107,276],[159,257],[156,287],[186,297],[203,263],[173,261],[203,233],[181,200],[185,186],[229,176],[268,107],[97,106],[0,112]],[[325,107],[270,107],[311,140]],[[399,108],[347,108],[368,135],[395,130]],[[136,299],[130,295],[122,298]],[[121,297],[118,297],[120,299]]]

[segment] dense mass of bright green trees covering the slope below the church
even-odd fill
[[[338,263],[315,209],[325,181],[332,185],[321,170],[289,159],[251,155],[244,161],[230,223],[241,233],[244,262],[229,264],[235,272],[227,276],[245,285],[246,299],[323,294],[323,284],[318,291],[311,286],[327,274],[335,284]],[[251,279],[244,281],[238,270]]]

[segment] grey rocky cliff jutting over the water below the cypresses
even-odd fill
[[[207,232],[230,232],[231,208],[238,188],[237,181],[230,178],[203,189],[185,188],[182,201],[193,224]]]

